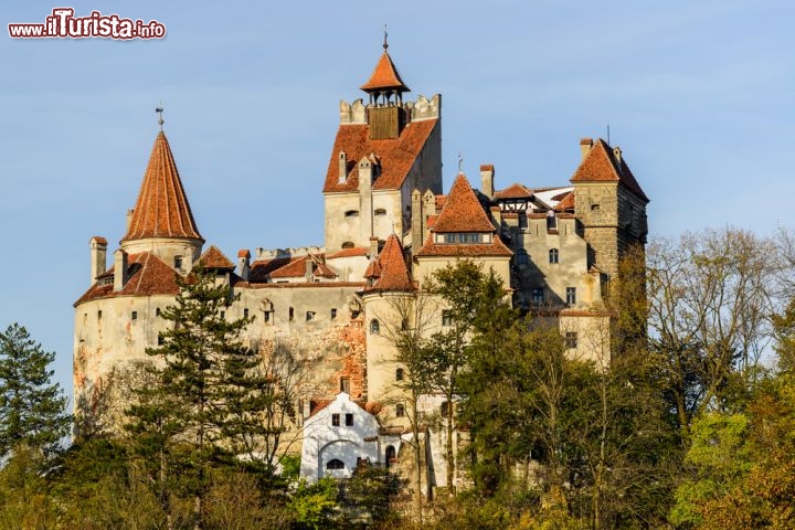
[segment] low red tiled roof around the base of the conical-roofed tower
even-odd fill
[[[177,273],[166,265],[159,257],[150,252],[131,254],[128,256],[127,265],[128,279],[121,290],[114,290],[113,276],[114,267],[99,275],[98,280],[74,306],[85,301],[107,298],[112,296],[151,296],[151,295],[177,295],[179,284]]]

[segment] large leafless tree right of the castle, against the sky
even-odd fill
[[[736,402],[760,373],[774,255],[768,240],[732,229],[649,248],[651,352],[683,441],[697,413]]]

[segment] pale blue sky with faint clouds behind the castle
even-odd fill
[[[57,353],[71,394],[88,239],[124,233],[166,131],[202,235],[239,248],[322,243],[340,98],[381,53],[443,94],[445,183],[464,156],[497,187],[565,184],[606,136],[651,198],[654,235],[794,227],[792,0],[66,2],[163,23],[152,41],[12,40],[63,2],[0,8],[0,326]],[[274,7],[272,7],[274,6]]]

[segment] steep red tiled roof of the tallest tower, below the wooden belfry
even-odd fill
[[[437,119],[411,121],[400,138],[371,140],[370,126],[363,124],[340,125],[337,130],[331,158],[326,171],[324,193],[357,191],[359,189],[359,160],[375,153],[380,158],[381,173],[372,184],[374,190],[396,190],[403,186],[414,160],[420,156]],[[351,168],[348,178],[339,181],[339,153],[344,151]]]

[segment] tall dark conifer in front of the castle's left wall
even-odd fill
[[[160,314],[173,327],[146,350],[156,383],[138,390],[128,430],[166,511],[179,488],[193,499],[200,530],[211,470],[241,465],[235,444],[261,421],[261,390],[271,383],[241,340],[251,319],[225,317],[234,301],[229,287],[201,269],[177,279],[174,305]]]

